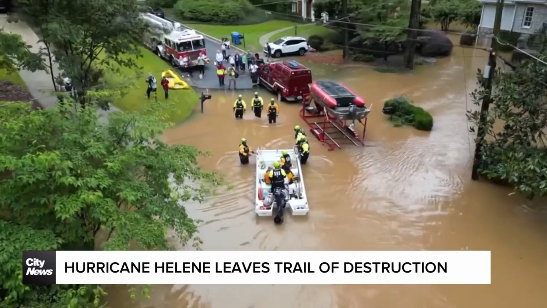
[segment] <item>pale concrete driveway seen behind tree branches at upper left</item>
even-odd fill
[[[20,35],[23,41],[32,45],[30,48],[32,52],[39,52],[40,47],[44,47],[43,43],[38,43],[39,38],[36,33],[34,33],[31,27],[23,21],[8,23],[7,15],[0,14],[0,28],[4,28],[6,33],[16,33]],[[56,76],[59,73],[59,69],[55,63],[53,65],[53,71]],[[57,97],[50,94],[50,92],[54,90],[54,87],[49,72],[21,70],[19,71],[19,75],[27,84],[28,91],[40,102],[40,105],[46,109],[55,106]]]

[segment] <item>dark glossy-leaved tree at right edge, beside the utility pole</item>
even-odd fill
[[[545,52],[539,58],[547,60]],[[528,198],[547,195],[546,77],[545,66],[537,61],[514,71],[496,71],[487,113],[479,172],[493,181],[514,185]],[[480,71],[478,80],[472,96],[480,106],[486,95]],[[467,115],[474,132],[480,111],[468,111]],[[494,124],[500,123],[503,128],[494,129]]]

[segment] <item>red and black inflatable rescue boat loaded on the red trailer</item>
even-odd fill
[[[315,81],[310,84],[310,92],[318,111],[324,108],[340,120],[363,119],[370,112],[361,96],[339,82]]]

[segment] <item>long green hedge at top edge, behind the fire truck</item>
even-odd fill
[[[234,1],[180,0],[174,5],[175,14],[182,20],[233,24],[243,18],[243,12]]]

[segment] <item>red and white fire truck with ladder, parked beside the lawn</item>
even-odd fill
[[[143,13],[141,17],[150,25],[150,31],[144,33],[144,45],[173,66],[195,66],[197,56],[207,57],[205,38],[196,31],[150,13]]]

